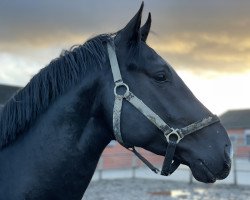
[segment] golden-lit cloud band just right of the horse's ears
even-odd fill
[[[225,32],[171,33],[154,38],[154,49],[177,69],[196,74],[244,73],[250,71],[250,35]]]

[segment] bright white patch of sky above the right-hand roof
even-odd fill
[[[222,114],[228,109],[249,109],[250,72],[227,74],[204,79],[187,71],[179,71],[180,76],[198,99],[213,113]]]

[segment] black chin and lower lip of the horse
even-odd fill
[[[190,166],[192,174],[197,181],[203,183],[214,183],[217,180],[215,174],[202,162],[197,161],[196,163]]]

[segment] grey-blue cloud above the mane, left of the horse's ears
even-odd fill
[[[48,38],[63,41],[60,36],[65,34],[91,36],[115,31],[119,23],[125,25],[129,20],[126,17],[129,13],[132,17],[139,5],[139,1],[134,0],[107,0],[105,3],[97,0],[4,0],[0,2],[0,41],[33,43],[34,40],[47,42]]]

